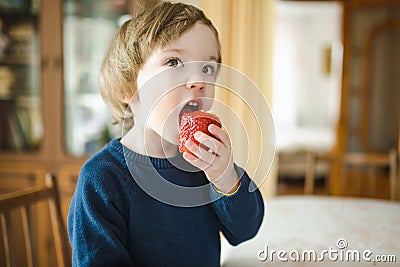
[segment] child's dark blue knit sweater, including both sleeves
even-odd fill
[[[180,155],[174,160],[184,161]],[[150,179],[150,169],[178,185],[208,185],[208,197],[215,201],[196,207],[165,204],[132,178]],[[219,233],[236,245],[252,238],[262,222],[263,200],[258,190],[249,192],[249,183],[244,172],[239,191],[220,196],[204,172],[137,154],[114,139],[79,175],[68,215],[73,266],[219,266]]]

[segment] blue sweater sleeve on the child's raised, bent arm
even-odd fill
[[[264,217],[264,202],[260,191],[249,191],[251,183],[247,173],[236,166],[241,174],[239,190],[231,196],[218,194],[211,185],[213,208],[221,222],[221,231],[231,245],[238,245],[253,238]]]

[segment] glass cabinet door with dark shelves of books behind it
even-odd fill
[[[41,144],[39,10],[39,0],[0,0],[0,152]]]

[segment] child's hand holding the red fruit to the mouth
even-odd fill
[[[233,165],[230,139],[222,128],[214,124],[208,126],[208,131],[216,138],[200,131],[196,132],[194,137],[204,148],[188,140],[185,146],[193,155],[184,152],[183,157],[203,170],[215,189],[229,194],[234,192],[240,184],[240,177]]]

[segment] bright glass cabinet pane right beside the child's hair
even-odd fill
[[[88,155],[120,133],[98,89],[102,59],[118,27],[129,19],[128,0],[64,0],[65,149]]]

